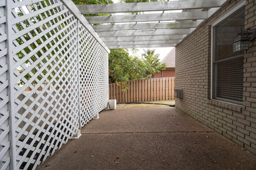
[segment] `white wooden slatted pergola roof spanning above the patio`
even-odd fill
[[[76,7],[82,14],[111,14],[86,17],[108,48],[155,48],[174,47],[226,1],[174,0]],[[159,13],[152,13],[156,11]],[[130,12],[136,14],[127,14]]]

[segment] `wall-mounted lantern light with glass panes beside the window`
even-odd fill
[[[238,37],[233,42],[233,52],[241,52],[249,49],[249,41],[252,41],[256,38],[256,29],[247,28],[246,31],[240,32],[237,34]]]

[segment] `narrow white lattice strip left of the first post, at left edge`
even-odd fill
[[[9,132],[10,125],[8,123],[9,111],[7,94],[8,80],[7,71],[8,65],[6,61],[7,47],[6,47],[6,24],[5,20],[5,2],[0,5],[0,169],[10,169],[10,141]]]

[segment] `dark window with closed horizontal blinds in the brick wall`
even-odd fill
[[[212,99],[242,104],[244,52],[233,53],[232,43],[244,29],[244,13],[242,7],[212,28]]]

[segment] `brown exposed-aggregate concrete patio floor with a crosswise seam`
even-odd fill
[[[105,110],[36,170],[255,170],[256,156],[176,108]]]

